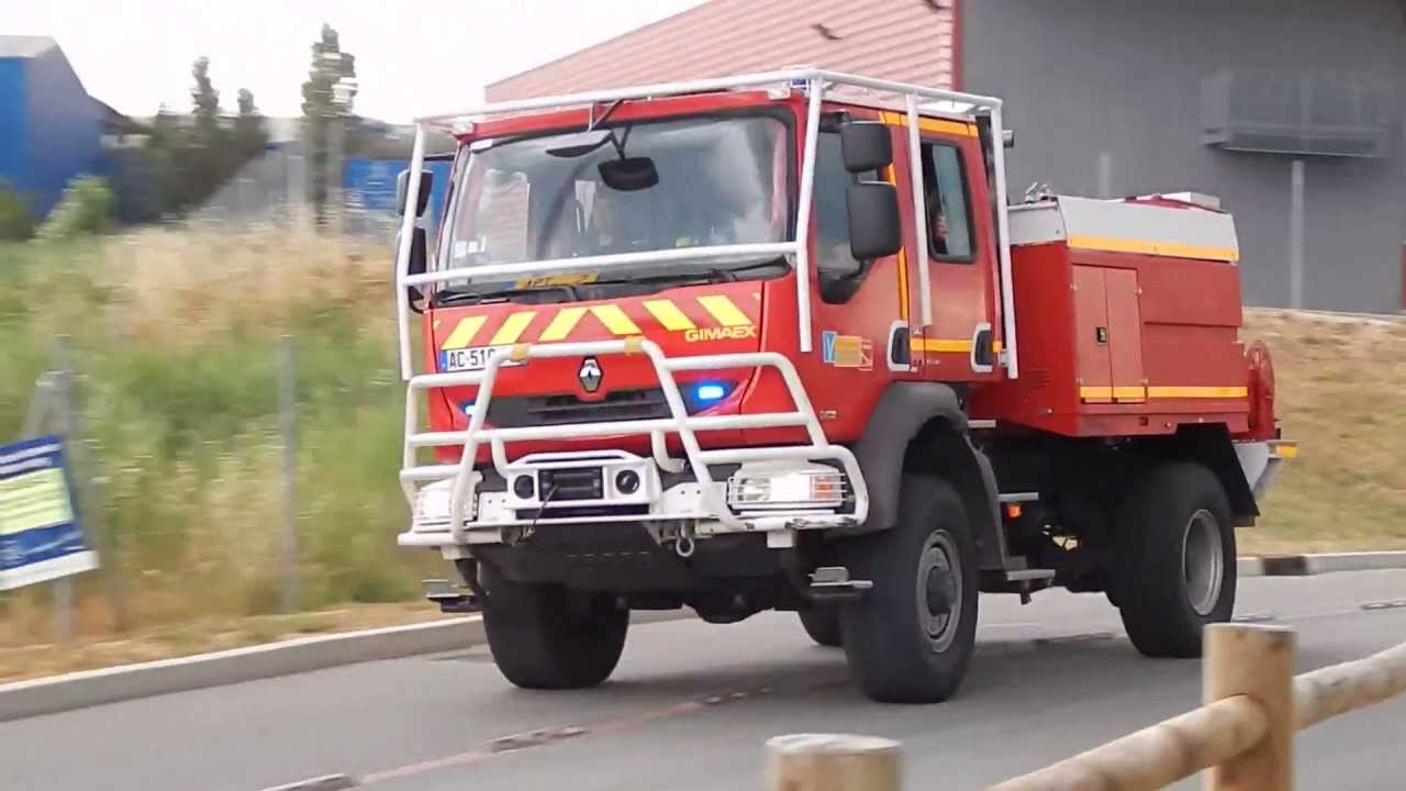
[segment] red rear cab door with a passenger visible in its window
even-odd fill
[[[994,379],[1001,346],[995,329],[998,252],[991,213],[984,210],[991,203],[977,131],[967,122],[936,118],[921,120],[920,129],[922,179],[910,182],[922,190],[928,256],[914,267],[928,272],[932,324],[917,327],[922,314],[915,301],[914,360],[928,380]],[[910,249],[912,258],[921,255],[917,239]]]

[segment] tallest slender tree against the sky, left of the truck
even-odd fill
[[[352,115],[354,99],[356,56],[343,52],[337,31],[323,24],[322,35],[312,44],[308,80],[302,83],[302,141],[308,163],[308,197],[319,225],[326,222],[332,148],[333,144],[340,144],[340,151],[346,151],[347,131],[356,125]]]

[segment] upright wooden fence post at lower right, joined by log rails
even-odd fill
[[[1215,624],[1206,628],[1204,701],[1246,695],[1264,708],[1268,732],[1206,773],[1208,791],[1294,788],[1294,629]]]

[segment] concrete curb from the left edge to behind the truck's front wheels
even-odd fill
[[[641,611],[631,614],[631,624],[692,616],[689,611]],[[0,722],[343,664],[463,650],[484,645],[485,639],[482,616],[470,615],[14,681],[0,684]]]

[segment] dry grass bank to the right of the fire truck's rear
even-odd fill
[[[1406,321],[1249,311],[1243,336],[1270,346],[1299,457],[1240,549],[1406,549]]]

